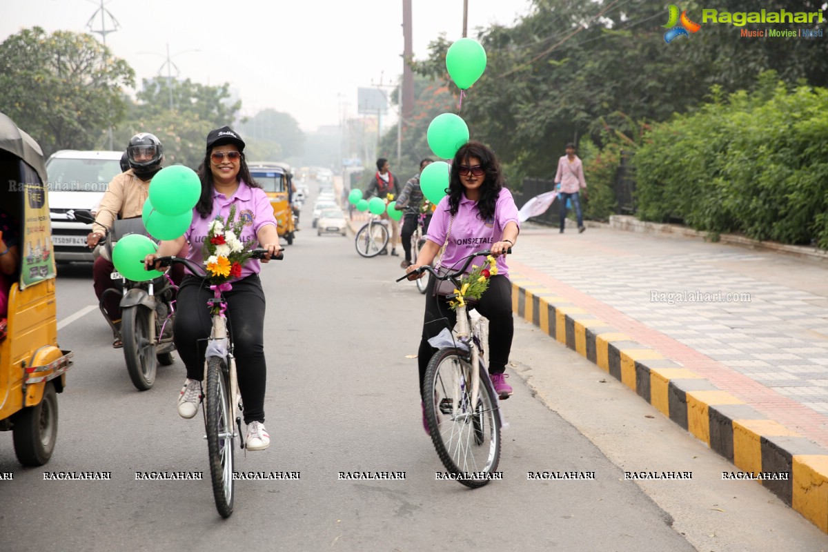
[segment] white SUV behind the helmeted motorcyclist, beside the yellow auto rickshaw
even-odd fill
[[[93,262],[86,247],[91,224],[76,221],[75,209],[94,209],[121,172],[123,151],[56,151],[46,161],[55,261]]]

